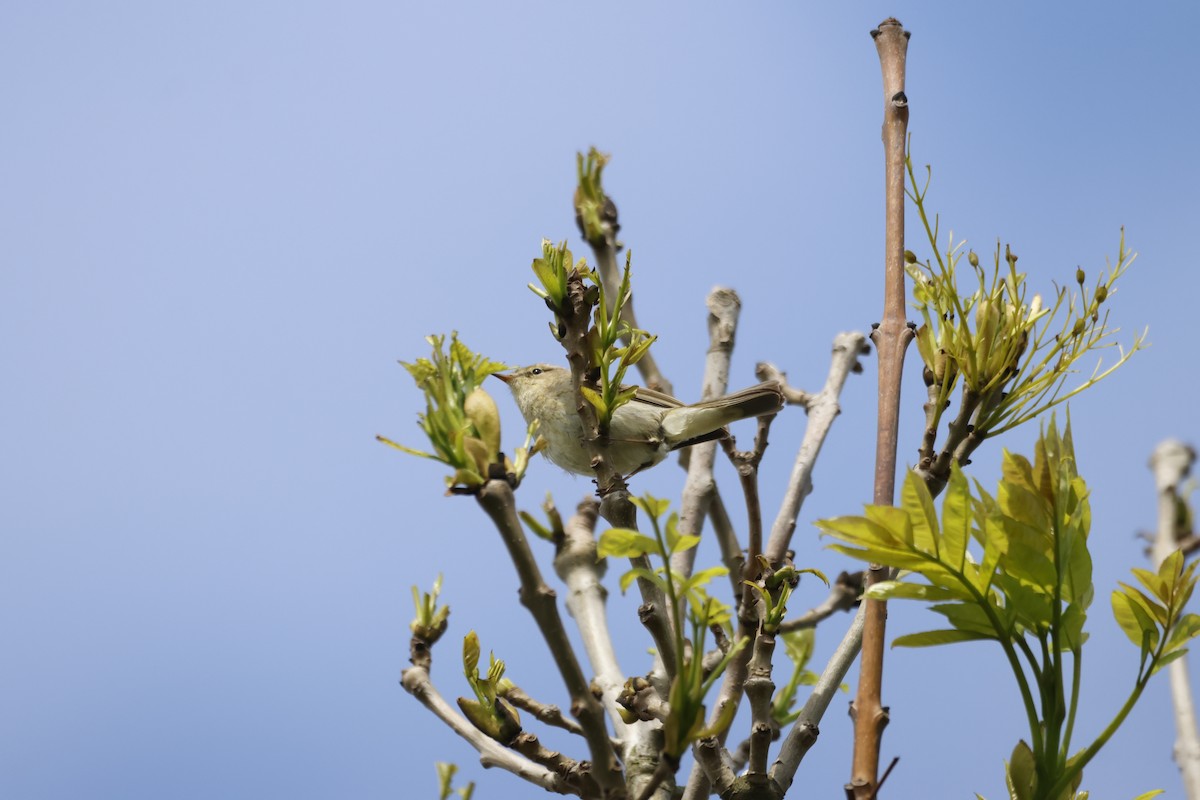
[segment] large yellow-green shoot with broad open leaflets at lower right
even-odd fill
[[[910,473],[898,507],[868,506],[865,516],[817,524],[839,540],[833,549],[924,578],[924,583],[884,582],[866,591],[868,597],[926,601],[949,622],[898,637],[894,645],[978,639],[1001,645],[1030,723],[1031,744],[1021,742],[1008,765],[1013,796],[1070,798],[1084,766],[1128,715],[1150,676],[1200,633],[1200,616],[1183,613],[1195,587],[1195,565],[1184,566],[1176,552],[1157,573],[1134,570],[1146,591],[1122,584],[1114,593],[1117,621],[1140,649],[1141,660],[1129,698],[1114,721],[1072,756],[1080,658],[1087,640],[1084,622],[1093,588],[1087,548],[1091,505],[1075,468],[1069,426],[1060,435],[1051,420],[1032,463],[1006,451],[995,497],[977,489],[973,495],[953,464],[938,518],[925,482]]]

